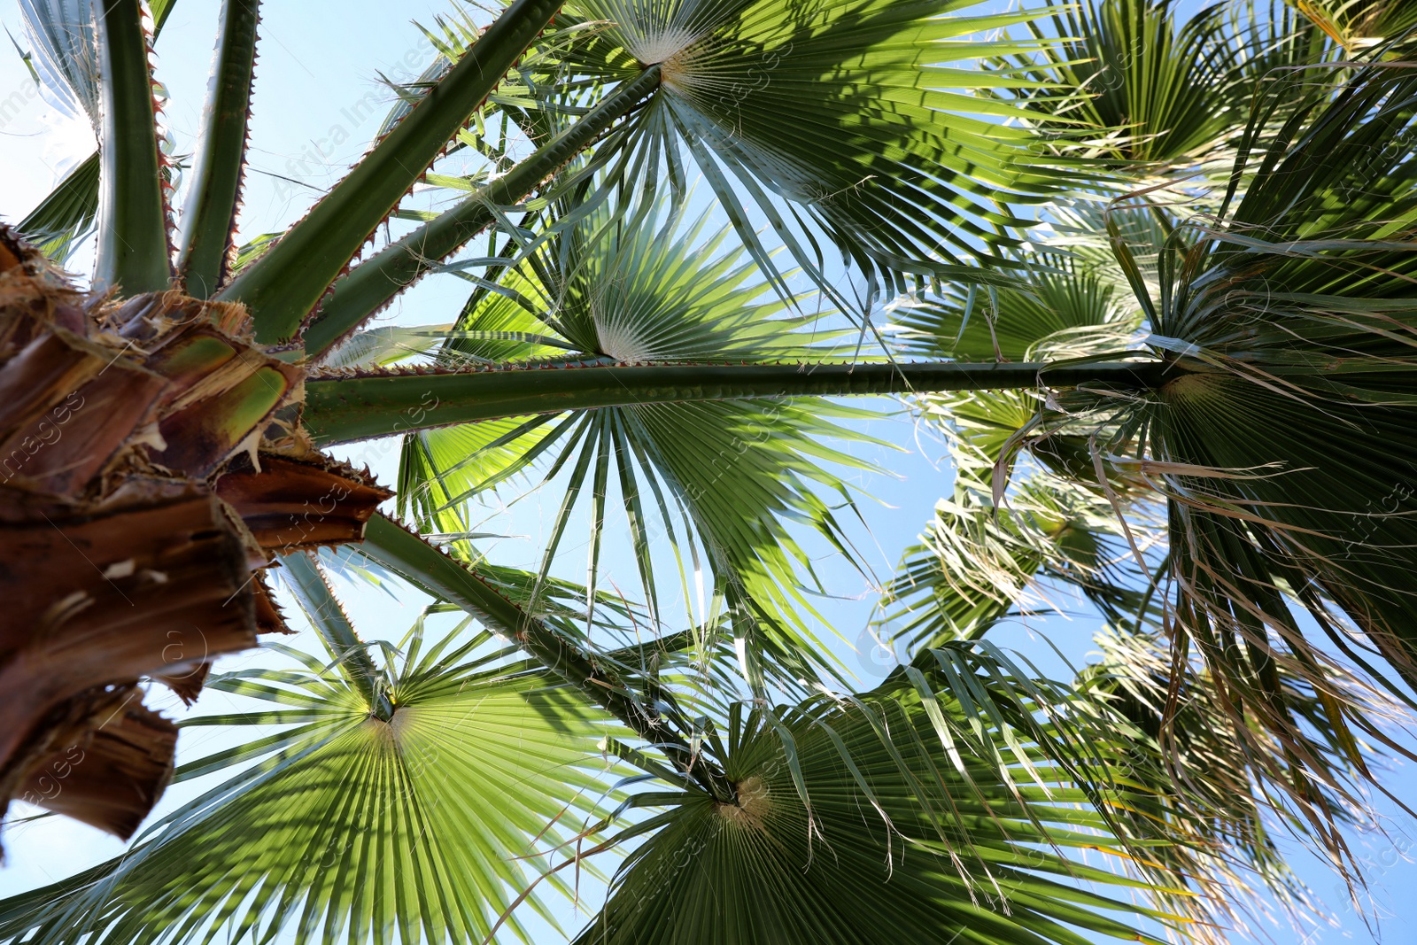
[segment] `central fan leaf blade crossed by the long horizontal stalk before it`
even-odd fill
[[[830,353],[822,343],[835,332],[812,332],[816,319],[784,316],[779,302],[762,302],[754,266],[737,251],[720,251],[724,232],[701,238],[701,227],[682,214],[650,214],[638,228],[609,211],[591,215],[499,282],[483,282],[438,361],[575,370],[585,363],[796,361]],[[792,680],[833,659],[806,629],[803,615],[813,611],[798,588],[803,581],[811,587],[813,577],[789,526],[805,524],[850,554],[818,492],[836,492],[842,503],[850,496],[819,463],[863,463],[820,441],[862,439],[830,418],[869,415],[815,398],[707,401],[425,431],[405,442],[400,494],[417,507],[425,530],[456,536],[472,530],[468,502],[479,493],[538,463],[547,479],[567,472],[543,574],[588,492],[594,591],[614,482],[650,616],[660,619],[650,543],[663,536],[680,553],[690,625],[718,626],[731,616],[731,630],[754,662],[745,667],[751,677],[781,669]],[[703,571],[708,587],[690,588],[689,575],[701,582]]]

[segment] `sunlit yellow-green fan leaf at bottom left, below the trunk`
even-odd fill
[[[315,594],[316,623],[344,619],[327,591]],[[387,718],[351,681],[347,650],[326,663],[269,645],[296,667],[208,681],[258,707],[184,725],[249,734],[177,779],[228,778],[122,857],[9,900],[0,938],[485,941],[547,851],[595,819],[606,768],[595,745],[619,730],[465,628],[425,642],[419,619],[383,645],[374,681]]]

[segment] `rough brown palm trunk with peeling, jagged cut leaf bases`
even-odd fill
[[[0,813],[130,836],[176,745],[139,680],[190,703],[215,657],[288,632],[261,571],[363,540],[390,496],[276,421],[303,368],[245,323],[179,292],[84,302],[0,227]]]

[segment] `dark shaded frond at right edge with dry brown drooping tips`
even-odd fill
[[[1342,810],[1311,785],[1325,782],[1325,749],[1287,686],[1321,696],[1339,744],[1393,748],[1370,706],[1332,681],[1348,672],[1339,655],[1382,676],[1377,655],[1417,679],[1417,531],[1393,459],[1413,426],[1414,89],[1406,69],[1365,67],[1275,132],[1277,91],[1240,142],[1219,217],[1182,221],[1152,248],[1155,283],[1110,217],[1169,380],[1141,398],[1050,401],[1093,431],[1093,475],[1080,480],[1100,485],[1102,466],[1168,499],[1163,591],[1179,659],[1202,662],[1251,764],[1335,861],[1343,842],[1326,825]]]

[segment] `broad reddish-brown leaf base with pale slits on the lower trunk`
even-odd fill
[[[94,510],[0,523],[0,759],[67,698],[256,642],[245,544],[220,502],[133,486]]]

